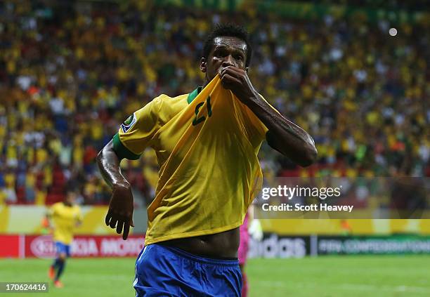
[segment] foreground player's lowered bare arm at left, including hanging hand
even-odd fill
[[[131,185],[124,178],[119,168],[121,159],[114,150],[113,140],[107,143],[98,153],[97,164],[107,185],[112,187],[112,197],[105,218],[106,225],[117,228],[122,233],[122,239],[129,236],[130,226],[133,226],[133,195]],[[124,229],[124,232],[123,232]]]

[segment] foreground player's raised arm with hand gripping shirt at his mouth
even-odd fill
[[[317,150],[312,137],[261,98],[249,81],[246,70],[228,65],[220,75],[224,88],[235,93],[268,128],[266,140],[271,147],[300,166],[309,166],[315,161]]]

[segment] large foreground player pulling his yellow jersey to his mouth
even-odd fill
[[[126,239],[131,185],[122,159],[152,147],[159,163],[145,247],[136,260],[136,296],[240,296],[239,226],[262,183],[263,140],[301,166],[316,158],[302,128],[269,105],[247,76],[247,32],[218,25],[203,46],[203,86],[159,95],[134,112],[97,157],[112,187],[105,223]]]

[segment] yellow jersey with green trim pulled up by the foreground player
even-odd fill
[[[222,87],[219,75],[204,89],[159,95],[134,112],[113,144],[121,158],[138,159],[148,146],[157,154],[159,180],[148,206],[145,244],[240,226],[261,188],[257,154],[266,132]]]

